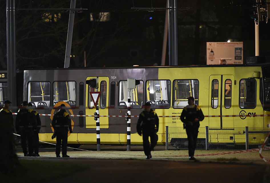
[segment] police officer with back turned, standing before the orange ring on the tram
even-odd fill
[[[69,157],[67,155],[67,138],[68,138],[68,128],[69,133],[72,133],[71,121],[69,114],[65,110],[65,104],[61,104],[60,109],[54,114],[52,120],[52,126],[56,134],[56,157],[60,157],[60,147],[62,141],[62,157]]]

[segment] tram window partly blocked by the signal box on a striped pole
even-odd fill
[[[119,109],[127,109],[128,107],[128,83],[127,81],[119,82]],[[140,109],[143,102],[143,81],[140,80],[140,84],[135,86],[135,89],[130,91],[130,108]]]

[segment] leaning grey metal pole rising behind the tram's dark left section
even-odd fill
[[[75,6],[76,6],[76,0],[70,0],[70,9],[74,9]],[[64,68],[68,68],[69,63],[70,63],[70,53],[71,53],[71,44],[72,44],[72,35],[73,35],[74,16],[75,16],[75,13],[70,10],[69,11],[67,46],[66,46],[66,55],[65,55]]]

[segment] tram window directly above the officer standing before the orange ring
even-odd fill
[[[76,106],[76,82],[55,81],[53,82],[53,102],[67,102],[71,108]]]

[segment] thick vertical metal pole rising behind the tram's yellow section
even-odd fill
[[[178,65],[177,0],[169,1],[169,65]]]

